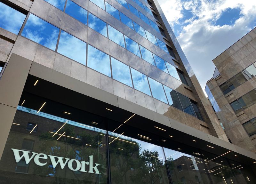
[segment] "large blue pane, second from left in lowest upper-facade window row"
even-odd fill
[[[55,51],[60,29],[30,14],[22,36]]]

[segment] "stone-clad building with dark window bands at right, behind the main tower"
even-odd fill
[[[205,88],[230,141],[254,153],[255,31],[256,28],[213,60],[216,69]]]

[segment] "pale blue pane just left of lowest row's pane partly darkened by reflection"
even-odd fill
[[[163,101],[164,103],[168,103],[164,93],[163,85],[154,79],[151,79],[150,77],[148,77],[148,81],[153,97],[157,100]]]

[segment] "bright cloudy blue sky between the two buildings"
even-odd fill
[[[158,0],[196,77],[205,88],[214,58],[256,27],[254,0]]]

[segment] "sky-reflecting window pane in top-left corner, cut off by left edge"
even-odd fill
[[[2,2],[0,2],[0,12],[0,27],[18,35],[26,15]]]

